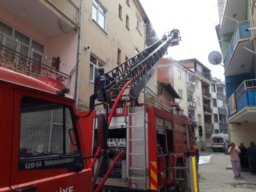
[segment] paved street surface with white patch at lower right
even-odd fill
[[[223,152],[200,152],[199,189],[200,192],[247,192],[256,191],[256,175],[241,172],[234,178],[232,169],[226,170],[230,156]]]

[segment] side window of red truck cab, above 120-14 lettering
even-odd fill
[[[67,106],[23,97],[20,113],[20,158],[79,152]]]

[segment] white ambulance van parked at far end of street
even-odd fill
[[[229,141],[228,135],[223,133],[212,134],[212,150],[225,152],[225,142]]]

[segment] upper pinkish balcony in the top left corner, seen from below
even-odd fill
[[[25,16],[24,6],[28,7]],[[77,6],[70,0],[0,1],[0,11],[3,15],[12,17],[16,22],[19,22],[16,18],[21,18],[50,37],[74,32],[74,27],[79,27],[80,14]]]

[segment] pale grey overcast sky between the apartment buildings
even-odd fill
[[[215,26],[218,24],[217,0],[140,0],[158,36],[173,28],[180,30],[182,42],[170,47],[175,60],[196,58],[212,70],[212,77],[224,80],[224,68],[213,66],[208,54],[219,51]]]

